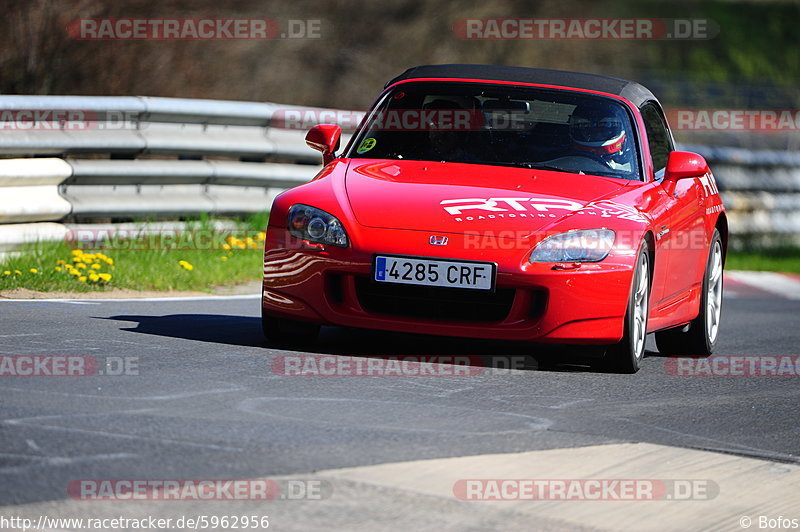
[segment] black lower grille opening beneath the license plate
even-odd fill
[[[367,312],[448,321],[502,321],[514,302],[513,288],[495,292],[378,283],[356,279],[358,301]]]

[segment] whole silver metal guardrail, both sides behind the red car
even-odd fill
[[[15,234],[27,242],[60,232],[47,224],[39,234],[29,222],[265,210],[277,193],[308,181],[319,168],[319,153],[305,145],[305,128],[281,127],[285,113],[303,113],[305,126],[314,116],[325,122],[345,116],[342,125],[352,127],[358,116],[273,103],[94,96],[0,95],[0,111],[12,117],[39,112],[45,120],[8,128],[0,117],[0,156],[26,157],[0,160],[0,249],[13,247]],[[48,117],[61,120],[48,123]],[[681,149],[708,159],[732,234],[800,239],[800,154]]]

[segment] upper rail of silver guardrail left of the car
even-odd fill
[[[305,149],[303,131],[272,127],[273,116],[286,108],[180,98],[0,96],[3,110],[65,117],[58,129],[33,123],[30,129],[6,129],[0,154],[223,156],[317,163],[316,154]]]

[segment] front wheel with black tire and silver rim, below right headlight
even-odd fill
[[[639,247],[625,313],[622,340],[608,348],[602,365],[619,373],[636,373],[644,359],[647,343],[647,319],[650,314],[650,257],[647,243]]]

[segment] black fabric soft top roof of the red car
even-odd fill
[[[386,87],[398,81],[416,78],[481,79],[487,81],[511,81],[537,83],[559,87],[587,89],[621,96],[636,107],[644,102],[658,102],[653,93],[633,81],[598,74],[583,74],[564,70],[525,68],[493,65],[423,65],[412,67],[389,81]]]

